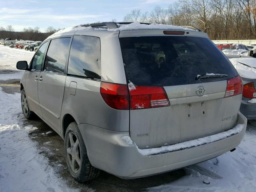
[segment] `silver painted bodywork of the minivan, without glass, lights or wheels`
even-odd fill
[[[187,34],[189,36],[207,38],[207,34],[202,32],[191,30],[185,32],[189,32]],[[54,34],[46,40],[73,35],[99,37],[101,81],[127,84],[119,37],[164,34],[163,30],[159,29],[78,30]],[[33,72],[26,71],[21,80],[26,92],[29,86],[26,79],[29,74]],[[67,75],[67,66],[63,75],[41,72],[41,76],[43,80],[38,82],[38,84],[42,83],[38,92],[34,90],[28,94],[28,96],[40,94],[38,97],[38,106],[42,112],[42,115],[38,113],[40,118],[63,138],[64,119],[67,115],[71,115],[82,134],[90,163],[121,178],[159,174],[214,158],[235,148],[242,140],[246,129],[246,119],[238,112],[242,96],[223,98],[226,80],[204,83],[206,93],[200,97],[196,95],[196,88],[202,84],[166,86],[164,89],[170,100],[169,107],[115,110],[102,99],[99,80]],[[40,102],[41,98],[42,102]],[[189,117],[188,114],[191,116]],[[221,120],[229,119],[229,116],[234,118],[223,125]],[[203,124],[207,125],[205,129]],[[242,132],[203,146],[153,156],[142,156],[138,153],[137,147],[143,149],[172,145],[216,134],[231,129],[236,124],[244,125]],[[146,132],[150,132],[149,137],[137,137]],[[122,139],[124,136],[131,136],[137,146],[127,144]]]

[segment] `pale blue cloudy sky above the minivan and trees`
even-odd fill
[[[15,31],[38,26],[65,28],[98,21],[123,21],[133,9],[150,12],[156,5],[167,8],[175,0],[0,0],[0,26]]]

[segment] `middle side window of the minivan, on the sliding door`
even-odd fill
[[[53,39],[48,48],[44,70],[54,73],[64,73],[68,58],[70,38]]]

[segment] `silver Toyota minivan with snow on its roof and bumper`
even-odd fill
[[[17,68],[24,116],[64,139],[79,182],[100,170],[130,179],[206,161],[236,148],[246,130],[242,79],[198,30],[78,26],[48,37]]]

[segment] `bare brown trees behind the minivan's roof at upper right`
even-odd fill
[[[194,26],[212,40],[256,39],[256,0],[179,0],[151,12],[134,9],[124,21]]]

